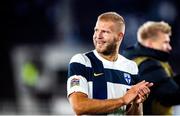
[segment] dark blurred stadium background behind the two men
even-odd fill
[[[145,21],[168,22],[170,63],[180,73],[179,0],[6,0],[2,5],[0,114],[73,114],[66,98],[68,62],[93,49],[96,18],[106,11],[125,18],[121,50],[136,42]]]

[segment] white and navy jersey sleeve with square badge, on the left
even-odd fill
[[[68,66],[67,96],[73,92],[82,92],[88,95],[86,74],[84,56],[82,54],[73,56]]]

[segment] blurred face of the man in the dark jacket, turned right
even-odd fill
[[[169,53],[172,50],[169,34],[158,32],[157,39],[152,43],[152,46],[154,49]]]

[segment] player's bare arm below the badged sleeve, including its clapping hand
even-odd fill
[[[149,93],[150,90],[146,86],[152,86],[152,84],[142,81],[131,87],[124,96],[106,100],[90,99],[84,93],[75,92],[69,96],[69,101],[76,114],[112,113],[121,106],[128,105],[133,102],[133,100],[137,98],[138,92],[141,93],[142,96]],[[140,90],[145,93],[140,92]],[[136,111],[137,114],[140,112],[138,108],[135,108],[134,111]]]

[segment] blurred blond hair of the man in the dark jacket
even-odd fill
[[[155,38],[158,32],[171,35],[171,26],[164,22],[148,21],[140,26],[137,32],[138,41],[141,43],[148,38]]]

